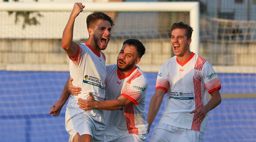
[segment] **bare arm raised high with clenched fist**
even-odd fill
[[[83,11],[85,6],[82,3],[75,3],[73,10],[70,14],[69,21],[63,31],[61,45],[62,48],[67,52],[69,57],[75,57],[78,51],[78,45],[73,42],[73,29],[76,17],[79,15],[80,12]]]

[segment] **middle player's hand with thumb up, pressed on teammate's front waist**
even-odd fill
[[[92,110],[94,109],[95,106],[95,100],[93,96],[91,95],[91,92],[89,92],[89,97],[87,100],[83,100],[81,98],[78,98],[78,105],[82,110]]]

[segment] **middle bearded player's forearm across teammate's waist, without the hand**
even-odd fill
[[[122,100],[105,100],[105,101],[95,101],[95,107],[101,110],[119,110],[125,106]]]

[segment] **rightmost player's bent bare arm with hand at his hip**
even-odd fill
[[[193,121],[201,123],[204,120],[206,114],[221,103],[221,95],[219,94],[219,90],[211,92],[210,95],[212,96],[212,98],[205,106],[197,108],[190,112],[194,113]]]

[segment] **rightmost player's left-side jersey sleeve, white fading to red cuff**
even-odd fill
[[[164,71],[164,67],[165,67],[165,64],[163,64],[161,66],[160,71],[157,74],[157,82],[155,85],[155,90],[163,89],[163,90],[165,90],[165,92],[167,92],[169,89],[170,83],[169,83],[168,77]]]

